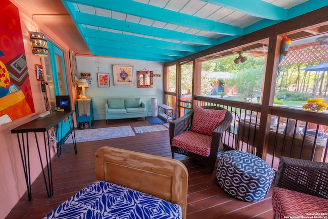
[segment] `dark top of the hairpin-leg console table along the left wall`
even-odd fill
[[[26,132],[45,132],[63,121],[71,115],[72,111],[54,111],[45,117],[39,117],[31,122],[20,125],[11,130],[11,133],[26,133]]]

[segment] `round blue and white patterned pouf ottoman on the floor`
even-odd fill
[[[217,182],[230,195],[257,202],[267,195],[274,170],[260,157],[243,151],[226,151],[219,157]]]

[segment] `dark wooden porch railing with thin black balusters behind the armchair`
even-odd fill
[[[171,103],[174,103],[175,96],[166,95],[168,99],[172,99]],[[198,95],[194,96],[193,103],[194,106],[220,106],[234,115],[230,129],[222,138],[227,149],[247,151],[258,156],[261,156],[257,153],[258,150],[264,150],[266,153],[262,157],[263,160],[271,164],[274,169],[278,168],[279,158],[282,155],[328,162],[327,136],[320,131],[322,125],[328,126],[326,113],[271,106],[269,115],[261,115],[261,104]],[[170,106],[177,109],[176,106]],[[188,112],[191,108],[181,109],[182,112]],[[183,115],[181,109],[179,114]],[[260,124],[260,118],[263,117],[268,118],[267,124]],[[313,128],[314,124],[315,128]],[[264,135],[265,140],[261,142],[259,135]]]

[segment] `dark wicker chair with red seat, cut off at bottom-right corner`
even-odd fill
[[[276,219],[313,213],[328,216],[328,163],[281,156],[272,206]]]

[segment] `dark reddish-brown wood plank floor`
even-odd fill
[[[117,120],[93,121],[90,128],[111,126],[151,125],[147,121]],[[169,131],[136,134],[131,137],[77,143],[77,154],[72,144],[65,144],[61,156],[52,160],[54,195],[48,198],[42,174],[32,184],[32,201],[24,194],[6,218],[43,218],[60,203],[80,189],[95,181],[94,153],[103,146],[171,157]],[[224,192],[217,184],[215,170],[209,173],[189,157],[176,154],[176,159],[189,171],[188,219],[210,218],[273,218],[271,204],[272,187],[264,200],[256,203],[239,201]]]

